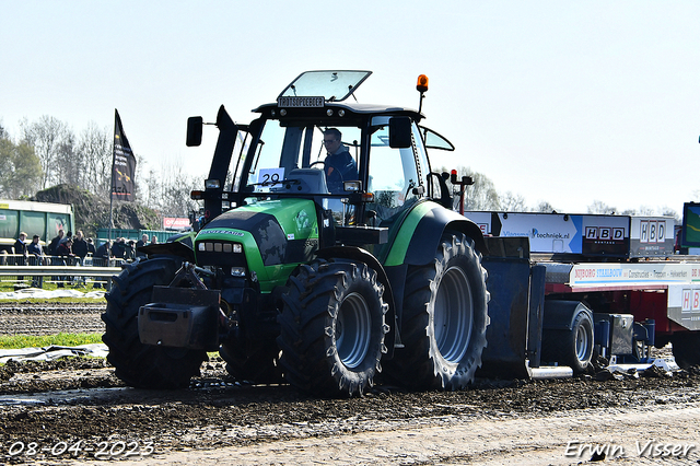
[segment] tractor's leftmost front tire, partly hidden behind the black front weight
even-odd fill
[[[124,383],[138,388],[186,388],[199,374],[205,351],[143,345],[139,340],[139,308],[151,301],[154,286],[166,286],[182,259],[170,256],[140,259],[112,279],[105,295],[107,310],[102,340],[109,347],[107,361]]]

